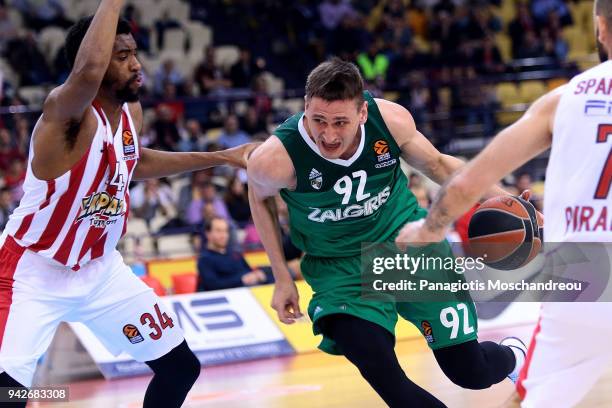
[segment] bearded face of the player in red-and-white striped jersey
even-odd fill
[[[121,102],[138,101],[142,86],[142,66],[136,56],[136,41],[132,34],[119,34],[115,38],[113,54],[102,84]]]

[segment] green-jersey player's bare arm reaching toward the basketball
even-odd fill
[[[463,160],[442,154],[417,130],[410,112],[401,105],[384,99],[376,103],[385,123],[402,151],[406,162],[438,184],[446,182],[465,165]],[[492,186],[486,197],[508,194],[498,186]]]

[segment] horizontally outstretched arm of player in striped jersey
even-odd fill
[[[244,168],[248,156],[259,145],[261,143],[247,143],[218,152],[164,152],[142,148],[134,179],[160,178],[224,164]]]

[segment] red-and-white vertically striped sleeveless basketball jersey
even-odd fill
[[[87,153],[66,173],[43,181],[32,172],[33,147],[24,196],[3,233],[38,254],[78,270],[113,251],[125,233],[128,186],[139,157],[138,137],[127,104],[113,135],[94,103],[98,127]],[[34,143],[31,143],[33,146]]]

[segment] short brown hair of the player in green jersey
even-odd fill
[[[352,62],[332,58],[319,64],[306,79],[306,99],[318,97],[326,101],[358,99],[363,103],[363,78]]]

